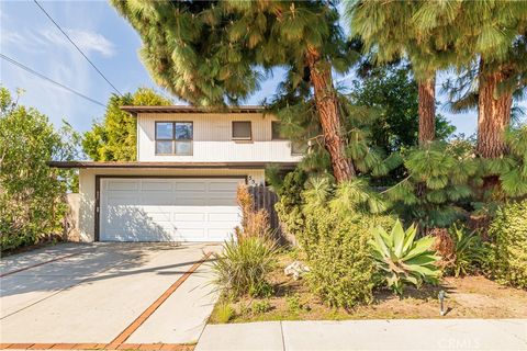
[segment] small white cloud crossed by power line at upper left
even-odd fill
[[[71,29],[66,29],[65,32],[87,55],[92,52],[99,53],[105,57],[115,55],[113,43],[106,39],[102,34]],[[58,31],[46,30],[42,32],[42,35],[54,45],[71,45]]]

